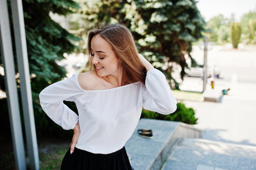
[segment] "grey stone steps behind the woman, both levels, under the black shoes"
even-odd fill
[[[140,128],[152,129],[154,138],[140,137]],[[188,124],[140,119],[125,147],[134,170],[256,170],[256,147],[200,137]]]

